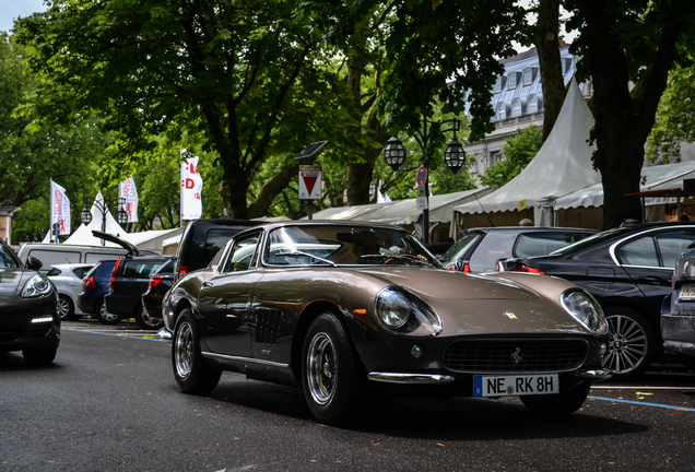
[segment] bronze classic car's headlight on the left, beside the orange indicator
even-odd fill
[[[374,302],[374,311],[384,328],[399,334],[429,337],[439,334],[443,329],[435,309],[400,286],[381,290]]]

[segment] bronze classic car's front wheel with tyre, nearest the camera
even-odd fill
[[[360,367],[345,328],[326,312],[311,323],[304,341],[302,384],[314,416],[334,423],[357,404]]]

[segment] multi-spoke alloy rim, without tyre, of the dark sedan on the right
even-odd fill
[[[634,319],[614,315],[606,318],[609,324],[609,352],[603,365],[614,374],[635,370],[647,356],[649,341],[643,327]]]

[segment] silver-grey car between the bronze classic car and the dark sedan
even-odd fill
[[[596,233],[594,229],[540,226],[470,228],[439,259],[449,270],[494,272],[499,259],[551,253]]]

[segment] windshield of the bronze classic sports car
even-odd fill
[[[297,225],[268,235],[270,266],[402,264],[443,268],[408,232],[360,225]]]

